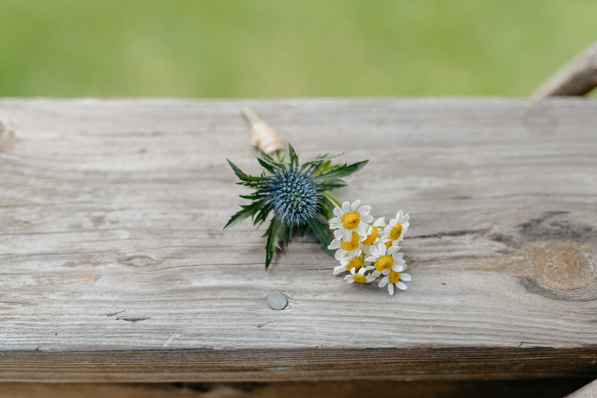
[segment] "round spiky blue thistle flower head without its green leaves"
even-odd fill
[[[306,224],[319,211],[321,193],[313,182],[312,173],[301,174],[293,168],[284,174],[273,175],[264,192],[269,194],[276,217],[287,224]]]

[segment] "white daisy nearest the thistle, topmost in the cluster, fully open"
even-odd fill
[[[352,233],[356,232],[359,236],[367,237],[368,224],[373,221],[373,216],[369,215],[371,206],[361,206],[358,210],[361,200],[355,200],[352,205],[349,202],[342,203],[342,208],[335,207],[334,215],[336,217],[330,220],[330,229],[334,231],[336,239],[347,242],[351,239]]]

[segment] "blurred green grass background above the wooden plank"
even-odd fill
[[[592,0],[0,0],[0,95],[530,94]]]

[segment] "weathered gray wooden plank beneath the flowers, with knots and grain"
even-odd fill
[[[336,195],[411,214],[407,291],[347,285],[310,236],[265,274],[263,231],[222,230],[247,193],[225,157],[259,172],[245,103],[302,159],[371,159]],[[597,375],[596,101],[8,98],[0,121],[0,380]]]

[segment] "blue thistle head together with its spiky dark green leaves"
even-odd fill
[[[250,199],[248,205],[233,215],[224,229],[240,223],[248,217],[253,218],[253,225],[259,226],[268,218],[269,227],[263,236],[267,237],[265,269],[272,263],[279,242],[284,246],[290,243],[295,230],[303,235],[305,230],[312,230],[323,248],[330,255],[330,230],[326,223],[334,217],[334,207],[340,202],[330,193],[331,189],[346,186],[341,178],[362,169],[368,161],[352,164],[332,165],[331,160],[343,155],[323,155],[312,161],[298,162],[298,155],[293,146],[288,144],[288,153],[278,152],[273,156],[260,150],[261,158],[257,158],[264,170],[259,176],[245,174],[234,163],[230,162],[232,171],[241,180],[237,184],[248,186],[255,191],[251,195],[241,195]],[[273,217],[269,217],[270,213]],[[320,219],[321,217],[321,219]]]

